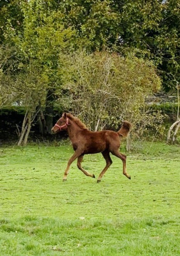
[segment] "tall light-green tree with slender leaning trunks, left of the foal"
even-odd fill
[[[54,93],[56,88],[60,89],[61,81],[57,76],[57,69],[63,63],[59,56],[63,55],[66,49],[70,50],[74,36],[71,28],[64,28],[61,13],[52,12],[51,9],[46,8],[46,4],[47,2],[42,0],[21,2],[21,14],[25,17],[21,24],[22,29],[14,28],[13,20],[8,19],[6,29],[3,31],[6,43],[16,51],[15,64],[11,66],[8,63],[8,65],[18,85],[24,89],[21,100],[27,110],[19,145],[27,143],[32,121],[38,113],[37,109],[40,111],[40,106],[45,103],[48,109],[49,102],[51,103],[49,92]],[[44,82],[42,78],[45,78]],[[51,129],[51,122],[49,127]]]

